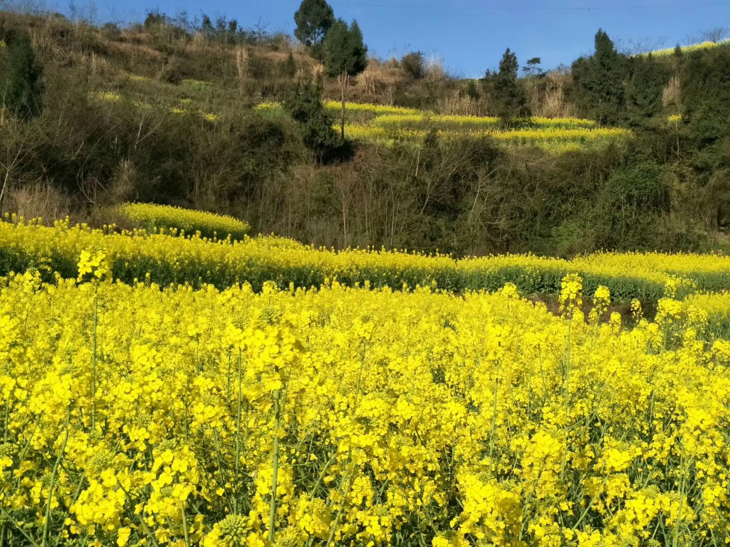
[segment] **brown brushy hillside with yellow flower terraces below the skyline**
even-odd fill
[[[117,203],[169,203],[307,243],[455,255],[724,248],[726,44],[626,57],[597,35],[570,69],[523,72],[519,118],[504,117],[499,75],[450,77],[417,54],[370,59],[347,88],[349,144],[317,156],[301,124],[265,112],[297,82],[340,98],[289,36],[155,13],[119,28],[3,12],[3,66],[25,31],[43,108],[2,117],[3,211],[101,225],[118,220]],[[325,111],[339,128],[334,105]]]

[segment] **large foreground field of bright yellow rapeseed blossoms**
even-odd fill
[[[106,260],[0,282],[7,545],[730,541],[730,343],[669,299],[626,330],[515,285],[192,290]]]

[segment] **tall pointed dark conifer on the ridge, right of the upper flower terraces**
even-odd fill
[[[573,63],[576,103],[582,115],[598,123],[617,125],[623,117],[626,56],[616,52],[601,29],[596,32],[596,50],[590,58]]]

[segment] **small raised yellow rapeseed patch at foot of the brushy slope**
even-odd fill
[[[117,208],[121,217],[141,225],[148,231],[174,229],[181,234],[199,233],[207,238],[242,239],[248,224],[224,214],[207,213],[154,203],[124,203]]]

